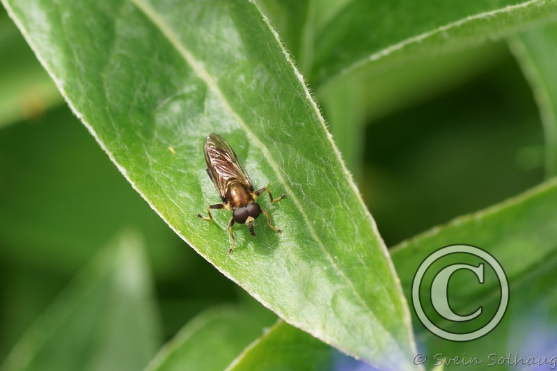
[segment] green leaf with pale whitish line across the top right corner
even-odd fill
[[[317,17],[309,80],[322,85],[368,65],[393,68],[419,56],[501,38],[556,14],[553,0],[345,1]]]

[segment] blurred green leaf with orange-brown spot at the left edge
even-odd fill
[[[56,85],[0,9],[0,127],[36,118],[63,102]]]

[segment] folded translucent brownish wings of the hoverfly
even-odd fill
[[[209,134],[203,145],[207,173],[221,198],[225,197],[228,180],[235,178],[251,187],[251,180],[244,166],[238,161],[236,153],[227,141],[217,134]]]

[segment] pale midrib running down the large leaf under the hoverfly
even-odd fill
[[[306,225],[308,226],[308,229],[311,231],[311,235],[313,236],[313,238],[315,239],[317,244],[320,246],[320,248],[322,249],[324,254],[327,256],[327,259],[329,260],[331,266],[334,267],[336,269],[336,271],[338,272],[338,274],[340,274],[340,276],[342,276],[345,279],[345,281],[348,283],[348,285],[350,285],[350,287],[352,288],[352,291],[354,292],[354,294],[356,295],[358,300],[363,304],[363,307],[368,310],[368,313],[370,313],[370,315],[375,319],[375,322],[377,324],[379,324],[379,326],[381,326],[382,329],[384,329],[384,333],[386,333],[389,336],[389,338],[391,338],[391,341],[393,342],[393,344],[395,344],[399,348],[400,353],[405,354],[405,352],[400,348],[398,340],[393,338],[393,336],[391,335],[391,332],[387,331],[387,329],[383,326],[382,322],[377,319],[377,317],[375,316],[375,313],[373,313],[373,311],[368,306],[368,303],[366,303],[366,301],[363,300],[363,298],[361,297],[359,292],[355,289],[352,281],[350,281],[347,278],[347,276],[345,276],[344,272],[335,264],[331,254],[324,247],[323,242],[321,241],[321,239],[317,235],[317,232],[315,232],[315,230],[313,229],[312,224],[309,222],[308,216],[304,212],[304,208],[301,207],[301,203],[299,202],[299,199],[297,198],[295,192],[293,192],[292,189],[290,189],[290,187],[288,187],[288,184],[285,182],[284,177],[281,176],[281,172],[278,169],[278,164],[276,164],[276,162],[274,161],[273,157],[271,156],[271,154],[269,153],[267,148],[265,148],[265,145],[263,145],[259,141],[258,136],[256,136],[251,131],[251,129],[249,128],[249,125],[246,125],[246,123],[244,123],[244,120],[242,120],[242,118],[240,118],[240,116],[236,113],[236,111],[232,108],[232,106],[230,106],[230,103],[228,102],[228,100],[226,100],[226,97],[222,93],[218,84],[214,81],[212,75],[209,72],[207,72],[207,70],[205,70],[205,68],[203,67],[203,63],[200,63],[194,57],[194,55],[189,52],[189,50],[185,47],[185,45],[182,45],[182,43],[180,42],[180,39],[175,36],[175,33],[173,32],[173,30],[166,26],[166,24],[164,23],[164,20],[157,14],[155,9],[151,8],[151,6],[148,3],[146,3],[143,0],[130,0],[130,1],[139,10],[141,10],[143,15],[145,15],[146,18],[149,19],[150,22],[152,22],[152,24],[155,25],[155,27],[157,27],[157,29],[159,29],[159,31],[162,33],[162,35],[164,35],[164,37],[166,37],[168,39],[168,42],[170,42],[171,45],[173,45],[173,47],[178,51],[178,53],[185,59],[185,61],[189,65],[191,65],[192,70],[194,70],[194,72],[196,74],[198,74],[198,77],[203,79],[203,81],[205,81],[205,84],[207,84],[207,86],[209,86],[209,88],[211,88],[213,90],[213,92],[217,94],[217,96],[221,99],[221,102],[223,102],[223,104],[228,108],[228,111],[230,111],[230,114],[234,118],[236,118],[237,122],[240,123],[240,125],[242,125],[245,132],[247,132],[249,134],[249,136],[251,136],[251,139],[253,140],[253,142],[256,143],[258,148],[260,148],[260,150],[263,152],[263,155],[265,155],[265,158],[267,159],[269,165],[272,166],[274,173],[276,174],[276,176],[278,177],[280,182],[283,184],[283,187],[288,190],[288,197],[291,198],[294,201],[294,203],[296,204],[296,206],[299,210],[299,214],[301,214],[301,216],[303,216],[304,221],[306,221]],[[533,0],[533,1],[535,1],[535,0]],[[297,72],[296,70],[295,70],[295,74],[297,75],[297,77],[299,77],[299,72]],[[301,82],[301,84],[304,85],[304,88],[305,88],[304,81],[300,81],[300,82]],[[306,94],[306,97],[307,97],[307,99],[311,100],[311,97],[310,97],[309,94]],[[312,102],[313,102],[313,100],[312,100]],[[320,118],[320,121],[323,120],[319,113],[317,113],[317,116]],[[232,278],[232,277],[230,277],[230,278]],[[235,281],[235,280],[233,280],[233,281]]]

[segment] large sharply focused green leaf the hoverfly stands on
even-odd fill
[[[134,188],[226,276],[287,322],[379,368],[414,369],[398,281],[315,102],[247,1],[3,0],[72,109]],[[61,17],[61,15],[63,15]],[[218,202],[203,138],[230,141],[276,235],[196,219]],[[242,227],[242,226],[240,226]]]

